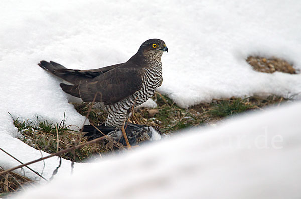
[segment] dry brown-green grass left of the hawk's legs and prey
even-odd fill
[[[82,136],[83,133],[70,130],[71,126],[65,125],[65,118],[63,118],[60,124],[39,121],[38,125],[29,121],[20,122],[18,118],[13,118],[13,120],[14,125],[23,135],[20,139],[24,143],[50,154],[87,141],[86,138]],[[62,155],[62,158],[75,162],[83,162],[91,155],[103,152],[99,144],[94,143],[76,149],[75,151],[67,152]]]

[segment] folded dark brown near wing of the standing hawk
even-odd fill
[[[85,102],[114,104],[142,88],[141,70],[137,68],[115,68],[95,77],[92,81],[78,85],[60,84],[62,89]],[[95,96],[96,95],[96,96]]]

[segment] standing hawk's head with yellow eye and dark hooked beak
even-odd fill
[[[149,39],[142,43],[138,52],[148,59],[160,61],[163,52],[168,52],[168,48],[163,40]]]

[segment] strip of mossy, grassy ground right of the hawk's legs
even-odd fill
[[[156,94],[153,99],[158,107],[154,109],[141,108],[135,111],[137,122],[157,127],[163,134],[205,124],[214,124],[225,117],[245,114],[249,110],[262,111],[266,106],[287,101],[283,97],[246,97],[230,99],[214,99],[210,103],[201,103],[183,109],[172,103],[166,96]],[[163,97],[164,100],[161,98]],[[135,122],[133,120],[133,122]]]

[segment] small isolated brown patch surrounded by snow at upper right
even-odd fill
[[[273,73],[273,72],[284,72],[289,74],[297,74],[293,65],[288,63],[286,60],[279,59],[276,57],[265,58],[259,56],[249,56],[246,60],[254,70],[259,72]]]

